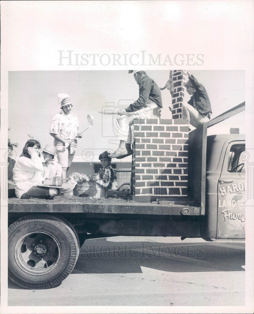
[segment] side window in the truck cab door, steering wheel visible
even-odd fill
[[[231,146],[228,156],[228,172],[245,172],[245,144]]]

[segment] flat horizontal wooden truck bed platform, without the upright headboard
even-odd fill
[[[182,210],[184,211],[182,212]],[[139,203],[120,198],[94,199],[73,197],[69,200],[8,199],[9,213],[95,213],[95,214],[148,214],[200,215],[200,207],[191,201],[168,200]]]

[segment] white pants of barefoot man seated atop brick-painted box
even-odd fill
[[[117,116],[117,138],[125,141],[127,144],[133,142],[133,120],[134,119],[158,119],[160,114],[158,110],[161,109],[154,102],[147,104],[146,108],[134,112],[126,112],[122,116]],[[135,114],[134,114],[135,113]]]

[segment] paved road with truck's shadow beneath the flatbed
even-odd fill
[[[172,237],[85,241],[58,287],[9,281],[9,306],[243,306],[244,242]]]

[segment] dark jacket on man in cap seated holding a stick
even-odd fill
[[[153,79],[144,75],[139,84],[139,98],[129,107],[125,108],[127,112],[137,111],[141,108],[147,107],[149,100],[156,103],[156,105],[162,108],[161,90]]]

